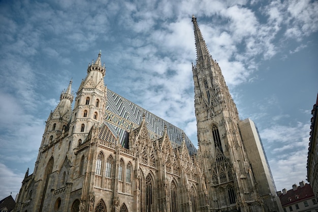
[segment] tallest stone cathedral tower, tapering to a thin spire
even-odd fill
[[[221,69],[193,16],[197,64],[193,66],[199,154],[213,209],[263,211],[263,201],[239,131],[239,116]],[[237,210],[236,210],[237,209]]]

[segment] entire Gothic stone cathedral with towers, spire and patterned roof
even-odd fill
[[[75,99],[71,81],[49,114],[14,211],[282,212],[258,130],[239,118],[195,16],[192,22],[199,148],[108,89],[100,52]]]

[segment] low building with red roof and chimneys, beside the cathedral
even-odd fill
[[[283,189],[282,192],[277,192],[281,206],[284,212],[316,212],[318,204],[312,192],[311,186],[305,184],[304,181],[299,182],[300,186],[293,185],[293,189]]]

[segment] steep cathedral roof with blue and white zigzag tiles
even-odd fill
[[[172,147],[177,148],[181,145],[184,132],[180,128],[107,89],[104,125],[107,125],[113,135],[119,137],[122,146],[126,146],[125,142],[128,140],[130,130],[139,127],[143,114],[145,114],[146,126],[152,140],[162,137],[165,126],[167,126]],[[189,154],[196,154],[197,149],[185,134],[184,140]]]

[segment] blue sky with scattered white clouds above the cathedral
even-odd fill
[[[33,173],[50,111],[100,50],[109,89],[197,146],[193,14],[240,118],[258,127],[277,191],[306,182],[316,11],[309,0],[0,1],[0,199]]]

